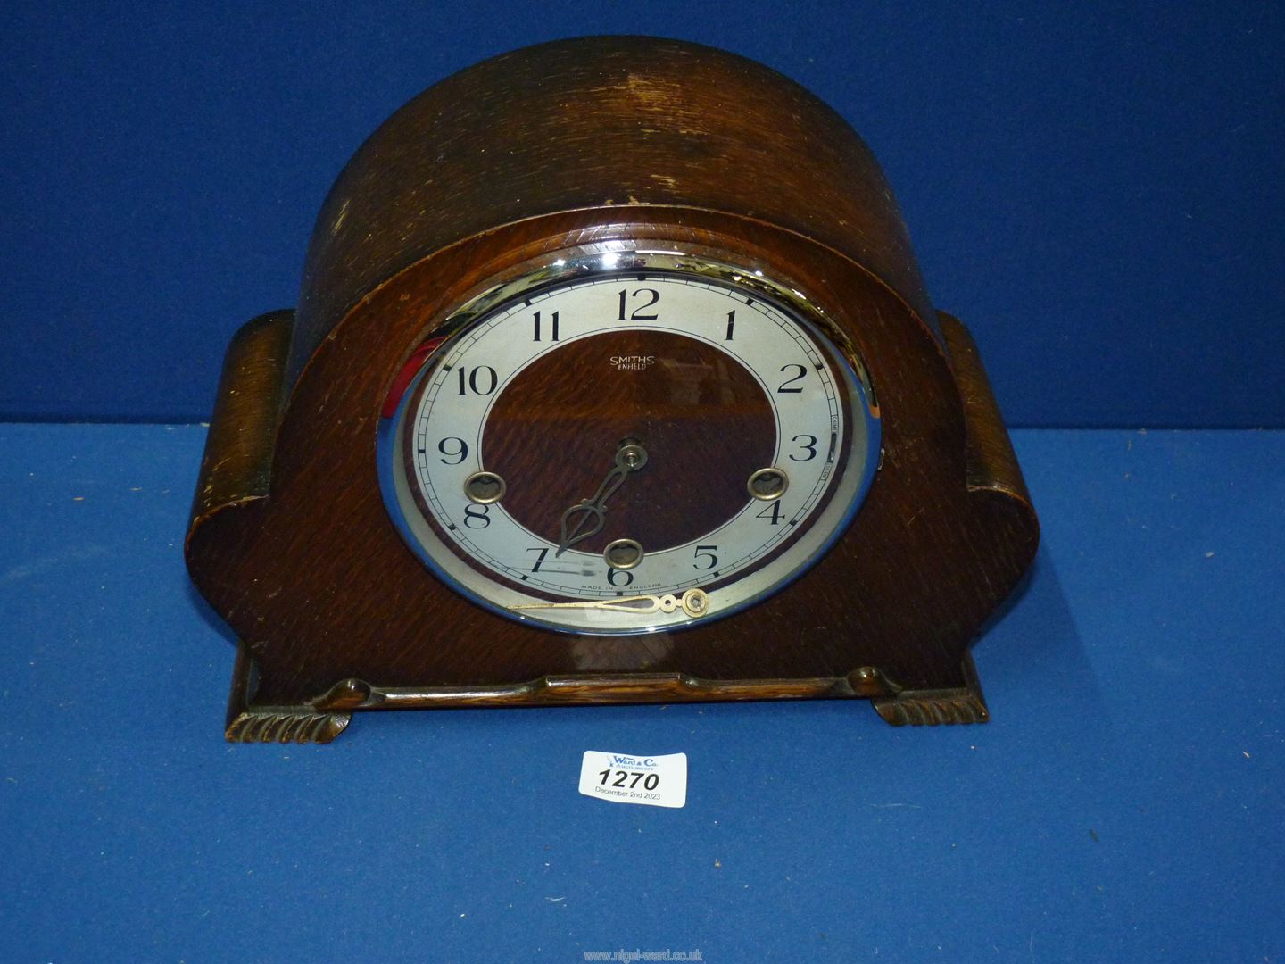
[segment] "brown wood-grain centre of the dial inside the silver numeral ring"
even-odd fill
[[[658,361],[646,377],[604,378],[613,353]],[[616,332],[523,369],[491,410],[482,455],[511,479],[508,513],[556,544],[563,512],[594,496],[625,438],[641,442],[648,463],[626,481],[627,497],[613,499],[603,531],[577,545],[583,551],[645,533],[657,553],[722,524],[745,505],[750,473],[771,464],[776,420],[726,352],[667,332]]]

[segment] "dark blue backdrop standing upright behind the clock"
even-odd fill
[[[696,40],[812,89],[898,192],[1010,423],[1285,424],[1280,5],[8,3],[0,418],[197,420],[380,121],[478,59]]]

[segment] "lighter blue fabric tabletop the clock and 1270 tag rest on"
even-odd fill
[[[370,713],[227,745],[198,427],[0,424],[0,959],[1277,960],[1285,433],[1019,432],[993,721],[862,702]],[[682,810],[576,792],[685,752]]]

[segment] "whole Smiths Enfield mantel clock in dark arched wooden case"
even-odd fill
[[[393,114],[227,352],[188,532],[227,738],[357,710],[861,697],[987,719],[1037,523],[869,149],[709,48],[560,41]]]

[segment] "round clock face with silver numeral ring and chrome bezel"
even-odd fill
[[[783,587],[851,522],[879,451],[866,386],[797,293],[695,267],[533,276],[416,362],[380,474],[434,572],[515,620],[675,629]]]

